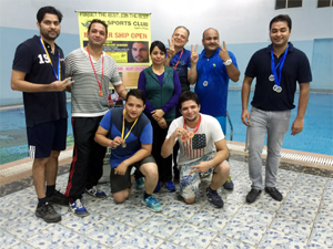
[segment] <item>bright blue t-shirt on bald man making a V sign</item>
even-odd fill
[[[194,92],[200,100],[200,112],[211,116],[226,116],[229,76],[219,55],[220,50],[219,48],[210,58],[205,56],[203,50],[196,63],[198,80]],[[230,51],[228,53],[238,69],[235,56]],[[208,84],[204,84],[205,81]]]

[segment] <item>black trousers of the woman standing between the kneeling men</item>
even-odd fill
[[[153,144],[152,144],[152,156],[155,158],[159,168],[159,180],[170,181],[172,180],[172,155],[167,158],[161,156],[161,148],[168,134],[168,128],[161,128],[155,121],[151,121],[153,127]]]

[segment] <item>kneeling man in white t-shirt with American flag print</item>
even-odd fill
[[[218,208],[223,200],[216,193],[228,179],[230,167],[225,162],[229,153],[222,128],[214,117],[200,114],[199,97],[193,92],[183,92],[179,97],[180,113],[168,131],[161,155],[168,157],[176,141],[180,144],[179,170],[180,194],[186,204],[192,204],[199,194],[199,173],[213,173],[205,190],[208,200]]]

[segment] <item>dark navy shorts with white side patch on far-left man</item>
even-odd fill
[[[51,155],[51,151],[64,151],[67,118],[27,127],[27,136],[30,158],[46,158]]]

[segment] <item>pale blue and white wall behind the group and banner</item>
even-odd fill
[[[21,93],[10,89],[12,59],[19,43],[38,34],[36,13],[44,4],[42,0],[0,0],[0,105],[21,102]],[[242,76],[240,82],[231,84],[236,87],[241,86],[253,52],[269,44],[270,20],[276,14],[287,13],[293,20],[291,41],[306,53],[312,64],[311,87],[333,90],[333,77],[330,76],[333,71],[330,40],[333,39],[333,29],[329,24],[333,23],[333,8],[317,9],[314,0],[303,0],[302,8],[285,10],[274,10],[274,0],[211,0],[209,4],[199,0],[49,0],[47,4],[60,9],[64,15],[57,43],[65,54],[79,46],[75,10],[152,13],[152,40],[167,43],[173,29],[182,24],[191,31],[188,48],[201,44],[206,28],[216,28],[221,40],[238,59]],[[325,66],[321,65],[323,61],[327,62]]]

